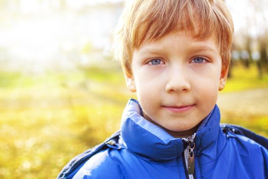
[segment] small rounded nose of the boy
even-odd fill
[[[189,74],[182,68],[173,68],[169,70],[168,80],[165,86],[167,93],[179,93],[190,91]]]

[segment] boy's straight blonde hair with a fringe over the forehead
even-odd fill
[[[128,0],[115,29],[115,58],[131,75],[134,50],[142,42],[187,30],[194,38],[215,38],[222,68],[231,59],[233,21],[223,0]]]

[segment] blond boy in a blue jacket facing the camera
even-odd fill
[[[268,178],[267,149],[220,127],[232,35],[222,0],[128,1],[117,58],[138,101],[127,104],[119,135],[71,177]]]

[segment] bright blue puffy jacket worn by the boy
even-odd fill
[[[216,105],[187,139],[170,136],[141,113],[138,102],[130,100],[119,140],[109,141],[73,178],[268,178],[268,150],[224,133]]]

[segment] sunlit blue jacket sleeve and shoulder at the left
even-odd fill
[[[109,155],[109,149],[95,154],[73,177],[74,179],[124,178],[120,165]]]

